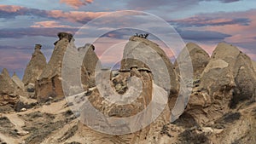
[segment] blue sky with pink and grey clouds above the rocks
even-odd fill
[[[115,20],[119,21],[119,26],[145,24],[147,20],[144,13],[165,20],[172,26],[172,32],[177,32],[184,43],[197,43],[210,55],[218,43],[226,42],[239,47],[256,60],[255,5],[255,0],[1,0],[0,70],[7,68],[10,75],[16,72],[22,78],[32,57],[34,45],[42,44],[42,52],[49,60],[54,43],[58,40],[58,32],[79,33],[80,37],[88,38],[109,30],[96,44],[96,54],[102,55],[107,46],[124,46],[129,35],[140,32],[130,29],[113,31]],[[84,28],[84,33],[79,32],[91,20],[122,10],[139,12],[136,19],[134,14],[126,14],[133,17],[126,16],[122,19],[115,19],[113,15],[105,17],[95,22],[95,26]],[[166,32],[166,29],[154,27],[151,23],[146,27]],[[150,38],[158,41],[154,36],[148,37]],[[82,43],[76,44],[77,47],[83,46]],[[112,58],[107,57],[107,62],[111,63]]]

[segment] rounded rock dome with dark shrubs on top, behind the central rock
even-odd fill
[[[158,84],[160,87],[177,94],[177,75],[173,70],[172,62],[156,43],[143,37],[131,37],[125,45],[121,69],[129,70],[133,65],[137,65],[138,69],[150,69],[154,73],[154,83],[160,82]],[[167,80],[170,80],[171,88],[168,87],[170,84],[166,84]]]

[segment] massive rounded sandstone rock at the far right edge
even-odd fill
[[[199,124],[220,118],[245,100],[255,98],[256,75],[252,60],[236,47],[219,43],[191,95],[187,112]]]

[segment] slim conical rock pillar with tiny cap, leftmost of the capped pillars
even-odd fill
[[[24,72],[22,82],[27,84],[36,84],[40,74],[44,71],[47,64],[44,54],[41,52],[42,45],[36,44],[32,59],[29,61]]]

